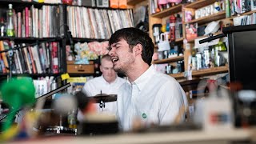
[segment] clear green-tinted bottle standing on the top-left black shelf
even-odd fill
[[[8,37],[14,37],[14,23],[13,23],[13,5],[9,4],[9,9],[7,10],[7,33]]]

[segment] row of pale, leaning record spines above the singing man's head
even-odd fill
[[[108,39],[116,30],[133,27],[132,10],[67,6],[67,25],[74,38]]]

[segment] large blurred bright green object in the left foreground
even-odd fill
[[[16,113],[24,106],[32,106],[34,98],[34,84],[28,78],[11,79],[3,82],[1,86],[2,101],[10,106],[10,113],[3,123],[2,130],[10,128]]]

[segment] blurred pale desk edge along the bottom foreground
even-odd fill
[[[230,143],[234,141],[248,141],[255,136],[255,130],[219,130],[205,132],[182,131],[182,132],[158,132],[158,133],[131,133],[131,134],[115,134],[105,136],[54,136],[49,138],[38,138],[29,141],[21,141],[18,143],[86,143],[86,144],[150,144],[150,143]],[[15,143],[15,142],[10,142]],[[16,142],[17,143],[17,142]]]

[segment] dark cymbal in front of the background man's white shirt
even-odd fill
[[[114,102],[114,101],[117,101],[118,95],[117,94],[97,94],[91,98],[94,99],[95,103]]]

